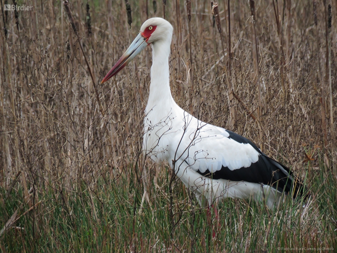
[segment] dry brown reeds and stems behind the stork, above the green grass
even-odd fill
[[[165,18],[174,27],[170,73],[178,105],[253,140],[268,156],[306,178],[309,187],[319,173],[325,176],[336,168],[337,157],[337,10],[336,1],[331,2],[329,28],[329,1],[323,2],[317,1],[315,25],[312,1],[256,1],[255,23],[248,1],[233,1],[230,43],[227,1],[218,2],[223,44],[210,1],[191,2],[190,42],[185,2],[167,1],[165,6]],[[69,3],[94,83],[62,2],[36,3],[32,11],[18,11],[18,17],[14,11],[1,13],[0,186],[4,206],[13,201],[9,196],[14,192],[25,201],[9,208],[11,213],[3,211],[0,220],[4,226],[16,210],[18,217],[29,214],[38,234],[47,225],[34,217],[39,220],[50,211],[41,190],[45,186],[54,189],[57,198],[63,192],[81,196],[81,187],[89,189],[87,204],[97,222],[102,219],[94,204],[97,189],[111,182],[120,187],[132,182],[136,186],[125,201],[136,206],[135,196],[142,198],[146,189],[145,203],[148,196],[151,203],[161,194],[155,186],[162,189],[157,182],[166,184],[169,169],[139,155],[150,47],[111,81],[100,84],[147,19],[146,2],[129,2],[131,29],[123,0],[89,2],[89,10],[86,2]],[[163,17],[161,1],[157,5],[154,14],[148,2],[149,18]],[[141,174],[148,176],[140,179]],[[66,194],[62,199],[66,203]],[[336,206],[336,199],[330,201]],[[130,232],[130,240],[133,235]],[[310,236],[310,243],[325,240]],[[329,236],[336,238],[336,232]]]

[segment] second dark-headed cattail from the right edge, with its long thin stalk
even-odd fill
[[[314,11],[314,23],[316,27],[316,44],[317,44],[317,56],[318,56],[318,69],[319,69],[319,81],[320,81],[320,89],[321,89],[321,97],[320,97],[320,112],[321,112],[321,120],[322,120],[322,132],[323,142],[325,148],[328,146],[328,134],[327,134],[327,123],[326,123],[326,105],[325,105],[325,89],[324,89],[324,82],[323,76],[320,66],[320,53],[319,53],[319,34],[318,34],[318,19],[317,19],[317,3],[316,0],[313,1],[313,11]]]

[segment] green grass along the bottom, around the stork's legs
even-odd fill
[[[3,252],[259,252],[264,249],[268,212],[250,200],[226,199],[220,203],[219,229],[213,239],[213,227],[207,222],[206,210],[199,208],[181,182],[174,188],[174,219],[177,223],[170,236],[168,206],[169,173],[151,183],[150,203],[137,208],[133,215],[136,182],[126,175],[106,182],[109,175],[97,178],[92,192],[86,182],[76,184],[71,191],[48,183],[39,187],[40,205],[35,214],[21,217],[16,227],[2,237]],[[322,183],[323,182],[323,183]],[[93,187],[92,187],[93,189]],[[335,179],[322,171],[314,176],[311,186],[314,199],[302,207],[288,201],[278,210],[270,210],[271,230],[267,238],[268,252],[290,252],[278,247],[334,247],[336,245]],[[4,192],[3,192],[4,194]],[[97,219],[93,214],[93,204]],[[12,191],[1,217],[11,213],[23,202],[24,193],[18,187]],[[24,205],[23,209],[28,209]],[[195,219],[191,224],[194,210]],[[213,224],[217,224],[213,220]],[[191,226],[193,229],[191,230]],[[191,244],[193,242],[193,244]],[[312,250],[311,252],[317,252]],[[321,250],[331,252],[331,250]]]

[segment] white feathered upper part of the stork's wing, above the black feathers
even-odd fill
[[[247,168],[258,161],[260,153],[249,143],[231,139],[223,128],[199,120],[198,125],[194,128],[198,130],[183,138],[179,147],[181,152],[186,150],[182,158],[192,170],[204,173],[208,169],[214,173],[222,167],[229,170]]]

